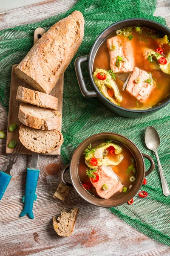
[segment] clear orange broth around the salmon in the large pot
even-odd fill
[[[156,34],[156,32],[143,28],[142,35],[139,36],[139,32],[135,31],[135,28],[132,28],[133,32],[133,39],[131,40],[132,46],[133,46],[133,52],[134,52],[134,58],[135,58],[135,67],[138,67],[141,70],[145,70],[147,72],[152,73],[152,77],[157,79],[156,85],[154,86],[153,90],[150,93],[150,96],[147,98],[147,100],[144,103],[141,103],[138,101],[136,103],[136,99],[133,98],[129,93],[127,93],[126,90],[122,90],[123,82],[116,78],[116,84],[119,88],[119,92],[122,95],[122,102],[120,103],[120,106],[122,108],[128,108],[128,109],[148,109],[152,108],[155,105],[158,105],[159,103],[163,102],[164,99],[167,98],[170,94],[170,75],[163,73],[161,70],[153,70],[150,62],[144,58],[143,56],[143,49],[144,47],[150,48],[150,49],[156,49],[158,48],[158,44],[156,44],[155,39],[152,37],[146,37],[144,38],[144,33],[153,32],[152,35]],[[111,34],[108,38],[112,38],[113,36],[116,36],[116,33],[114,32]],[[139,41],[141,37],[145,41]],[[94,58],[94,70],[96,67],[102,68],[105,70],[110,70],[110,58],[109,53],[107,49],[106,41],[103,41],[103,43],[100,45],[96,52],[96,56]],[[123,44],[123,40],[122,40]],[[170,47],[167,44],[164,44],[164,55],[167,56],[167,52],[170,50]]]

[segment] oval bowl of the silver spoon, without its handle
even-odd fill
[[[158,132],[153,126],[149,126],[146,129],[144,140],[147,148],[156,151],[160,145],[160,137]]]

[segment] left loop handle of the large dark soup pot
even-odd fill
[[[85,85],[85,80],[84,80],[83,75],[82,75],[81,64],[84,63],[84,62],[87,62],[87,61],[88,61],[88,55],[78,57],[74,62],[74,66],[75,66],[77,80],[78,80],[79,87],[80,87],[80,90],[82,92],[82,95],[84,97],[90,98],[90,97],[96,97],[98,95],[95,91],[89,91],[87,89],[86,85]]]

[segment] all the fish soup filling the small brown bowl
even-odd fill
[[[78,166],[79,180],[87,192],[99,198],[125,194],[136,178],[133,154],[112,140],[100,140],[85,148]]]

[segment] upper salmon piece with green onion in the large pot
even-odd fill
[[[110,49],[111,45],[115,45],[116,49],[112,51]],[[133,71],[135,60],[131,41],[122,41],[119,36],[114,36],[107,40],[107,47],[110,56],[110,67],[114,73]],[[120,67],[116,67],[118,55],[123,58],[123,61],[125,61],[121,61]]]

